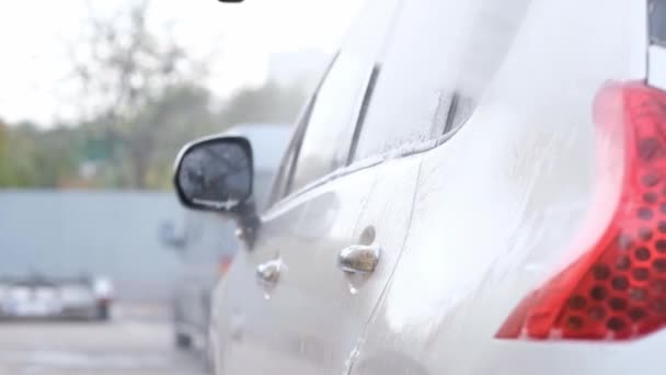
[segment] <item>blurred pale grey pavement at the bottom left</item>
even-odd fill
[[[0,322],[0,375],[203,375],[172,344],[168,318],[137,306],[111,321]]]

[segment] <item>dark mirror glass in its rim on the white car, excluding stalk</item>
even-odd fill
[[[204,140],[185,149],[176,189],[188,206],[231,211],[252,195],[252,156],[244,138]]]

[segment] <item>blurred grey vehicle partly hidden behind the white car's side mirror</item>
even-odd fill
[[[225,133],[226,136],[242,135],[252,139],[263,150],[256,160],[253,192],[259,205],[265,204],[291,132],[290,124],[246,123]],[[174,223],[166,221],[160,228],[160,236],[163,243],[176,250],[183,265],[172,298],[174,344],[181,349],[205,349],[210,293],[238,251],[236,227],[218,213],[188,211],[183,228],[177,229]]]

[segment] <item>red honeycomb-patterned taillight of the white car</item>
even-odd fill
[[[666,93],[608,84],[595,122],[600,137],[622,138],[621,184],[598,186],[589,219],[601,224],[586,229],[594,240],[518,305],[497,338],[625,340],[666,326]],[[609,162],[598,160],[599,175]],[[595,217],[609,208],[609,219]]]

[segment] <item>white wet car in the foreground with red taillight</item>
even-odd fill
[[[265,211],[242,137],[175,185],[244,239],[216,374],[662,374],[666,2],[371,0]]]

